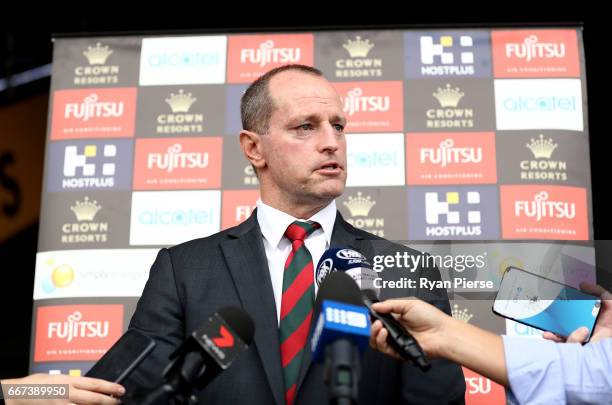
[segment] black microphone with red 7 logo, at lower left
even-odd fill
[[[164,383],[142,402],[146,405],[188,403],[196,389],[204,388],[227,370],[253,341],[251,317],[235,307],[224,307],[211,315],[170,355],[163,373]]]

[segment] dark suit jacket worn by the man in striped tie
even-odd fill
[[[350,247],[366,257],[377,245],[390,242],[354,228],[337,213],[332,247]],[[403,250],[410,250],[401,247]],[[410,250],[410,253],[419,254]],[[435,269],[417,271],[413,277],[439,279]],[[385,273],[385,272],[383,272]],[[383,274],[381,273],[381,274]],[[423,273],[423,274],[421,274]],[[396,278],[405,272],[390,272]],[[434,304],[450,313],[444,291]],[[417,295],[420,291],[393,291],[387,296]],[[199,395],[200,403],[284,405],[283,374],[279,349],[274,293],[256,213],[242,224],[170,249],[162,249],[132,317],[130,328],[153,337],[157,347],[125,382],[128,392],[136,386],[160,381],[168,356],[209,315],[224,306],[243,308],[255,323],[251,346],[232,366]],[[296,405],[328,403],[323,366],[303,361]],[[463,403],[465,381],[459,366],[446,360],[432,361],[428,372],[368,349],[361,362],[360,404]]]

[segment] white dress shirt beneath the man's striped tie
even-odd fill
[[[276,302],[276,319],[280,323],[281,301],[283,298],[283,271],[285,261],[291,252],[291,242],[284,234],[287,227],[293,221],[298,220],[291,215],[272,208],[264,204],[261,200],[257,201],[257,222],[263,235],[266,259],[268,259],[268,269],[270,270],[270,280],[274,291],[274,301]],[[316,229],[306,238],[304,244],[312,256],[313,279],[317,271],[317,263],[325,250],[329,249],[331,234],[336,221],[336,201],[332,201],[321,211],[308,218],[309,221],[318,222],[321,228]],[[303,221],[303,220],[298,220]],[[317,293],[317,283],[315,282],[315,294]]]

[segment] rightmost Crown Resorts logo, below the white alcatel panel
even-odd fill
[[[567,162],[551,159],[559,146],[552,138],[544,139],[540,134],[538,139],[531,138],[525,146],[534,159],[519,162],[521,180],[567,181]]]

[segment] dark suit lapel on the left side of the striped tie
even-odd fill
[[[221,250],[243,308],[255,322],[254,343],[277,405],[284,405],[276,303],[256,211],[238,226]]]

